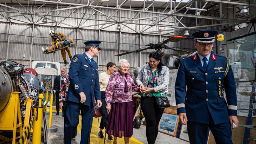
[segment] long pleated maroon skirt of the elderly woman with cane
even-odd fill
[[[108,135],[132,137],[133,102],[112,103],[108,116]]]

